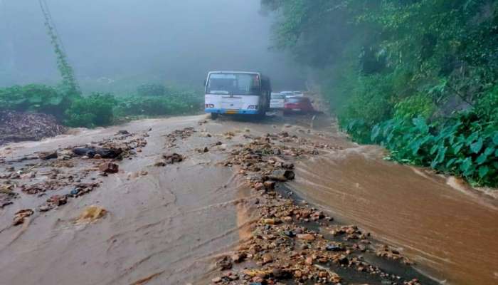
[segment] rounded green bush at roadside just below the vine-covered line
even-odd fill
[[[116,99],[110,94],[93,93],[88,97],[76,98],[65,110],[65,125],[70,127],[95,128],[110,125],[114,118]]]

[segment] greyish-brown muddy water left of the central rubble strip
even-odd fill
[[[152,128],[147,147],[132,160],[120,162],[119,173],[99,178],[102,186],[90,194],[60,209],[36,212],[24,227],[11,227],[14,212],[35,208],[47,197],[21,193],[14,204],[0,209],[0,284],[188,284],[202,279],[213,269],[218,254],[239,243],[254,212],[251,193],[232,170],[218,165],[226,151],[211,147],[221,140],[216,134],[223,125],[208,126],[213,138],[195,133],[179,140],[179,147],[166,147],[164,135],[188,126],[204,128],[197,125],[202,119],[142,120],[0,148],[0,155],[11,160],[109,138],[121,129],[140,133]],[[210,152],[196,152],[196,147],[204,146],[210,146]],[[153,166],[162,153],[171,151],[185,155],[186,160]],[[142,170],[148,175],[128,179],[129,173]],[[92,204],[109,214],[95,224],[75,224],[80,212]]]

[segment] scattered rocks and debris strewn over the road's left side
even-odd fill
[[[120,130],[110,138],[89,145],[4,161],[2,165],[6,167],[0,172],[0,208],[16,204],[16,199],[36,198],[36,207],[16,212],[15,226],[23,224],[24,219],[35,212],[63,207],[100,187],[100,177],[119,172],[119,161],[137,155],[147,145],[147,137],[147,133]],[[100,214],[96,216],[100,217]]]

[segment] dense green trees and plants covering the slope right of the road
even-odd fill
[[[498,1],[261,3],[354,140],[497,185]]]

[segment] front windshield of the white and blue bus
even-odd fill
[[[260,95],[260,76],[249,73],[212,73],[206,93],[220,95]]]

